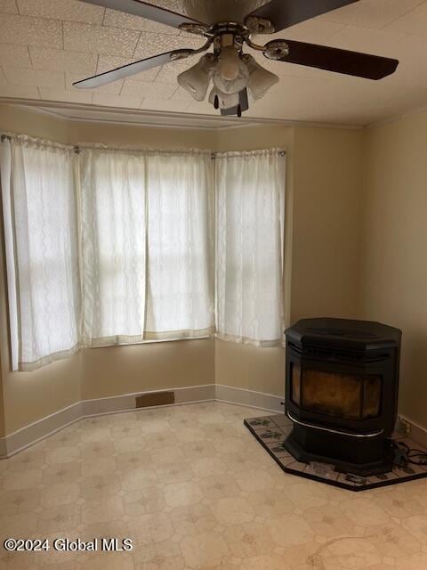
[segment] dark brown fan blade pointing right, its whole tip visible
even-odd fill
[[[326,69],[367,79],[383,79],[396,71],[399,61],[368,53],[349,52],[326,45],[305,44],[294,40],[284,40],[289,54],[278,61],[297,63],[310,68]],[[274,42],[269,42],[274,44]],[[267,44],[266,46],[268,46]]]

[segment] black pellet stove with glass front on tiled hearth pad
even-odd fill
[[[391,471],[400,337],[379,322],[329,318],[286,330],[285,446],[295,459],[359,476]]]

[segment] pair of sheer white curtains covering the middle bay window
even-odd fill
[[[214,332],[210,161],[81,151],[86,346]]]

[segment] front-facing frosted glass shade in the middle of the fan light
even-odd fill
[[[235,47],[222,48],[213,74],[215,87],[223,94],[237,94],[245,89],[248,78],[249,72],[238,50]]]

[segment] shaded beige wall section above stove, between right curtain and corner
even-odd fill
[[[363,133],[297,128],[291,321],[359,315]]]

